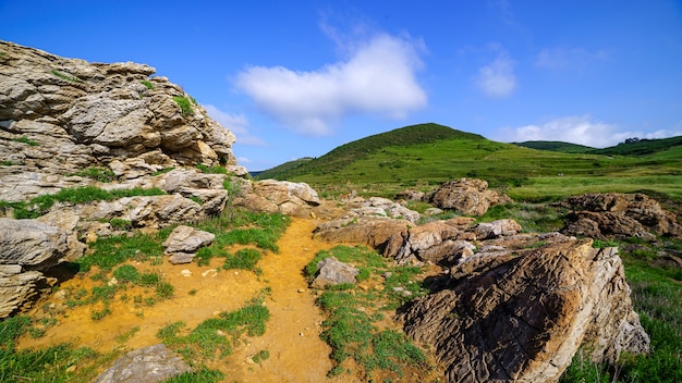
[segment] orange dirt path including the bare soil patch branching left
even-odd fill
[[[90,347],[101,353],[119,348],[132,350],[159,343],[159,329],[183,321],[193,329],[218,312],[239,309],[245,301],[264,288],[270,294],[266,306],[270,312],[265,335],[248,339],[234,349],[227,359],[216,360],[209,367],[226,373],[226,382],[350,382],[343,379],[327,379],[332,365],[330,347],[320,337],[321,312],[315,306],[315,296],[307,288],[302,270],[320,249],[332,245],[312,239],[316,222],[292,219],[291,225],[278,242],[280,251],[267,254],[258,267],[263,274],[251,271],[218,271],[221,260],[215,259],[209,267],[196,262],[172,265],[132,263],[143,271],[156,271],[174,286],[173,298],[161,300],[150,307],[133,305],[139,292],[131,287],[111,302],[112,314],[101,320],[92,319],[93,308],[74,307],[58,316],[58,324],[47,329],[38,338],[24,336],[20,348],[44,348],[60,343]],[[185,271],[183,273],[183,271]],[[188,271],[188,272],[186,272]],[[87,276],[76,276],[64,282],[60,291],[92,289],[94,282]],[[57,292],[39,302],[29,313],[34,318],[45,314],[51,307],[63,307],[64,297]],[[121,335],[130,334],[125,341]],[[269,353],[269,358],[255,363],[252,357],[259,351]]]

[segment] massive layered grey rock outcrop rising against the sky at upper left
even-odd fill
[[[0,196],[28,200],[178,165],[236,165],[234,135],[150,66],[88,63],[0,41]],[[150,77],[151,76],[151,77]]]

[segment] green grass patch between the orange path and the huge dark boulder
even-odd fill
[[[381,291],[363,289],[353,284],[328,286],[321,292],[317,302],[327,312],[322,323],[321,338],[331,348],[334,368],[329,375],[346,371],[344,361],[353,359],[370,381],[375,371],[400,378],[406,367],[427,368],[427,358],[422,349],[414,346],[404,334],[392,330],[379,330],[375,324],[386,318],[382,311],[394,311],[406,300],[425,294],[419,283],[421,268],[395,267],[376,251],[366,247],[337,246],[320,251],[305,268],[312,280],[317,262],[336,257],[342,262],[353,263],[361,270],[358,280],[385,280]],[[407,291],[411,297],[395,291]]]

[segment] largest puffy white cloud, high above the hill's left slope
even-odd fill
[[[261,111],[309,136],[330,134],[350,114],[403,119],[426,106],[426,92],[415,78],[422,67],[418,42],[379,35],[348,47],[348,60],[316,71],[249,66],[235,85]]]

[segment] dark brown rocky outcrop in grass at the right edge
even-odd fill
[[[562,230],[569,235],[598,239],[682,235],[675,215],[644,194],[586,194],[567,198],[561,206],[573,210]]]

